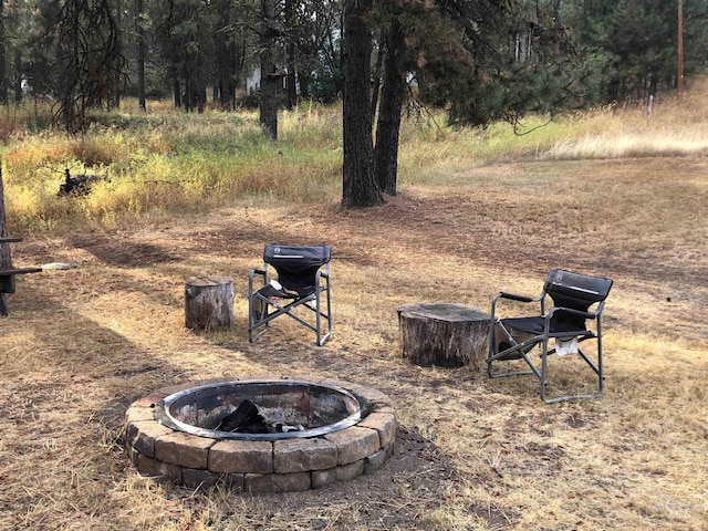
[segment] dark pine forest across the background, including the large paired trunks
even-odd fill
[[[396,195],[404,110],[517,127],[530,114],[680,96],[705,66],[707,11],[683,0],[3,1],[0,103],[49,102],[49,125],[75,134],[125,95],[143,111],[170,93],[186,112],[209,97],[223,111],[258,102],[277,138],[281,104],[343,95],[342,205],[366,207]]]

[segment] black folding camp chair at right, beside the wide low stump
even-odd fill
[[[490,377],[517,374],[535,375],[541,383],[541,399],[546,404],[572,398],[594,398],[603,393],[602,372],[602,312],[612,280],[552,269],[538,296],[500,292],[491,301],[491,322],[487,373]],[[545,311],[546,295],[553,308]],[[533,316],[499,319],[497,303],[509,299],[521,303],[539,303],[540,313]],[[592,311],[591,311],[592,309]],[[550,341],[553,340],[551,347]],[[582,343],[595,340],[594,353],[583,352]],[[540,367],[531,360],[531,350],[540,347]],[[590,394],[563,395],[546,398],[548,362],[552,354],[579,354],[597,377],[597,391]],[[523,360],[529,371],[496,372],[498,362]]]

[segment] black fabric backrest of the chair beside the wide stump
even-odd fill
[[[543,291],[548,293],[556,306],[572,308],[586,312],[590,306],[607,299],[612,280],[602,277],[573,273],[562,269],[552,269]],[[553,319],[584,327],[585,320],[565,312],[556,312]]]

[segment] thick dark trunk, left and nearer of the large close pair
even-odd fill
[[[374,145],[368,112],[372,0],[346,0],[344,6],[344,165],[342,207],[373,207],[383,202],[373,173]]]

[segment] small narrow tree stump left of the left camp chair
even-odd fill
[[[191,330],[233,325],[233,280],[192,277],[185,282],[186,325]]]

